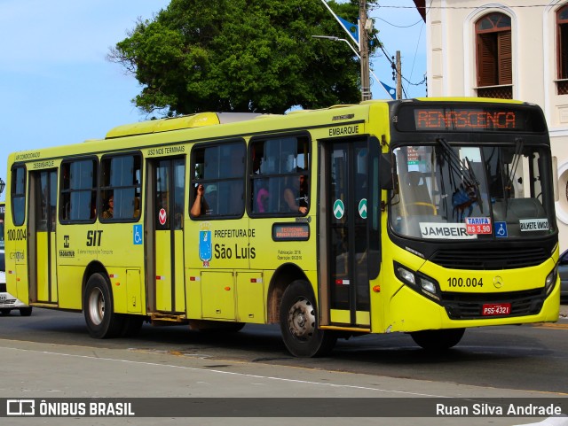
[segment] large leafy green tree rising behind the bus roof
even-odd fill
[[[370,1],[375,3],[375,1]],[[329,5],[357,22],[359,0]],[[282,113],[360,99],[359,59],[319,0],[172,0],[138,20],[108,59],[143,86],[144,112]]]

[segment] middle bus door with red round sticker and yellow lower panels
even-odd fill
[[[149,164],[147,197],[153,243],[146,259],[148,310],[165,314],[185,313],[184,205],[185,159],[159,159]]]

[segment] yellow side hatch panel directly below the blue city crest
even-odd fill
[[[201,272],[203,318],[236,320],[233,272]]]

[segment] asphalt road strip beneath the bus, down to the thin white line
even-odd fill
[[[0,317],[0,339],[568,395],[567,313],[563,306],[556,324],[469,329],[444,354],[424,352],[410,337],[391,334],[340,340],[326,358],[297,359],[286,351],[277,326],[254,325],[230,335],[145,325],[135,338],[96,340],[82,314],[45,309],[31,317]]]

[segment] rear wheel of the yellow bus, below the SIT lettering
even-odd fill
[[[91,337],[116,337],[122,332],[124,318],[114,313],[113,295],[103,275],[89,277],[83,296],[83,313]]]

